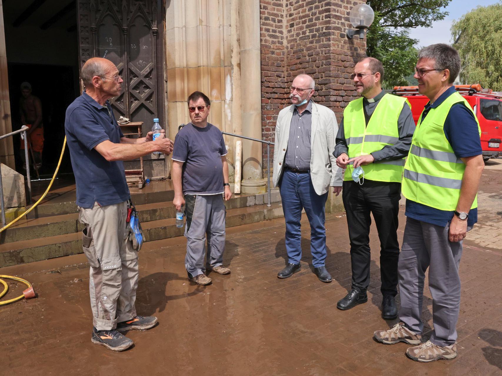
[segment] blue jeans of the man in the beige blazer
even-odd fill
[[[302,258],[302,234],[300,220],[302,208],[310,222],[310,252],[315,268],[324,266],[326,260],[326,230],[324,205],[328,193],[315,193],[310,173],[295,173],[286,168],[280,185],[281,199],[286,219],[286,251],[288,263],[300,264]]]

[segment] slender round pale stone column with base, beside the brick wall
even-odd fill
[[[242,135],[262,139],[262,81],[260,48],[260,1],[241,0],[240,73]],[[242,141],[243,194],[264,193],[262,143]]]

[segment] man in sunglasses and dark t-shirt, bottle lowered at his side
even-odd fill
[[[221,131],[207,122],[211,102],[196,91],[188,97],[191,122],[174,140],[173,204],[177,211],[186,203],[187,254],[185,267],[188,278],[199,285],[212,281],[204,272],[229,274],[222,265],[225,250],[225,200],[232,197],[228,183],[226,147]],[[204,248],[207,234],[207,260],[204,268]]]

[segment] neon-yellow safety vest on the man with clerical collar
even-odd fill
[[[343,130],[349,158],[368,155],[398,142],[398,119],[405,103],[410,106],[406,98],[385,94],[376,105],[366,126],[362,98],[350,102],[343,111]],[[401,182],[405,161],[405,158],[375,161],[361,167],[365,179]],[[344,180],[352,179],[352,170],[352,165],[348,165]]]

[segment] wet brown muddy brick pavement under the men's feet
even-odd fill
[[[83,255],[3,268],[1,274],[33,283],[39,297],[0,307],[0,374],[502,374],[500,161],[488,162],[483,173],[479,223],[464,244],[459,356],[454,360],[418,363],[405,356],[409,345],[383,345],[372,339],[374,330],[397,322],[381,318],[374,227],[368,302],[349,311],[336,309],[350,286],[347,225],[339,213],[326,221],[326,267],[333,276],[329,284],[313,274],[306,219],[302,270],[288,279],[277,278],[286,262],[284,219],[227,229],[224,265],[232,273],[211,273],[213,284],[206,287],[187,279],[184,238],[147,243],[140,252],[137,310],[156,315],[160,324],[145,332],[129,332],[135,345],[120,353],[90,341],[89,276]],[[21,294],[21,285],[10,286],[9,298]],[[426,289],[425,338],[430,336],[431,309]]]

